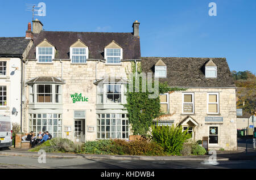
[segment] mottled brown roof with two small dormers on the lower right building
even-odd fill
[[[143,72],[154,72],[156,62],[167,65],[167,78],[159,78],[170,87],[236,87],[226,58],[142,57]],[[217,66],[217,78],[205,78],[205,64],[212,59]]]

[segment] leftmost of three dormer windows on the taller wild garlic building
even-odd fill
[[[38,46],[36,46],[36,59],[40,63],[49,63],[52,62],[55,55],[54,46],[44,39]]]

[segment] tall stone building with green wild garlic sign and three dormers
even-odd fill
[[[122,104],[131,62],[141,57],[138,28],[135,21],[133,33],[55,32],[34,20],[23,131],[80,141],[129,138]]]

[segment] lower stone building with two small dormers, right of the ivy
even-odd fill
[[[143,72],[185,91],[160,95],[166,115],[159,125],[188,128],[193,140],[208,139],[209,149],[236,150],[236,85],[225,58],[142,57]]]

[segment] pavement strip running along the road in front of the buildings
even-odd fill
[[[29,152],[26,149],[6,149],[0,151],[0,156],[23,156],[23,157],[39,157],[38,152]],[[245,149],[238,148],[237,151],[216,151],[217,161],[231,161],[231,160],[254,160],[256,158],[256,151],[246,153]],[[87,159],[109,159],[109,160],[195,160],[205,161],[209,160],[212,155],[204,156],[119,156],[119,155],[87,155],[79,153],[46,153],[48,158],[87,158]]]

